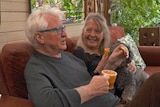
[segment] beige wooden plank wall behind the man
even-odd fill
[[[27,40],[24,27],[29,15],[30,0],[0,0],[0,51],[9,42]],[[82,24],[66,24],[69,37],[81,33]]]

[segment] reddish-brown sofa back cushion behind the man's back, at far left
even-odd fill
[[[34,48],[29,42],[10,43],[2,48],[2,70],[9,95],[28,98],[24,68],[33,52]]]

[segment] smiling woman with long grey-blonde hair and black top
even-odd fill
[[[107,60],[107,56],[103,56],[104,48],[110,48],[111,44],[111,37],[105,18],[101,14],[91,13],[85,20],[82,35],[78,40],[74,55],[84,60],[88,67],[88,72],[94,75],[95,72],[100,73],[103,70],[104,62]],[[116,69],[122,62],[120,59],[115,59],[116,63],[114,62],[115,64],[109,68]],[[131,65],[128,69],[134,72],[136,67],[133,62]]]

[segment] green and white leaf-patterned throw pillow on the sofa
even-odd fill
[[[137,66],[137,68],[144,70],[146,67],[146,64],[144,60],[142,59],[139,50],[132,39],[132,37],[128,34],[120,39],[118,39],[119,42],[126,44],[128,47],[130,47],[131,51],[133,52],[133,60]]]

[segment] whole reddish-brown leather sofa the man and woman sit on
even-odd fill
[[[115,29],[115,30],[113,30]],[[111,35],[124,35],[123,29],[113,28]],[[114,35],[115,35],[114,34]],[[114,39],[115,39],[114,38]],[[115,40],[116,40],[115,39]],[[77,37],[67,38],[67,50],[74,51]],[[160,71],[160,47],[138,47],[145,63],[146,72],[153,74]],[[24,68],[27,60],[33,54],[34,48],[29,42],[15,42],[6,44],[0,53],[0,107],[34,107],[28,100],[27,88],[24,80]]]

